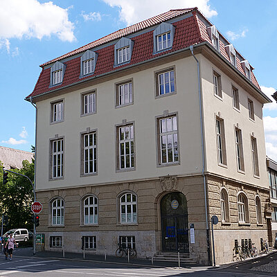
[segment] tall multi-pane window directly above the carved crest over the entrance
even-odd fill
[[[177,116],[159,118],[159,163],[179,161]]]

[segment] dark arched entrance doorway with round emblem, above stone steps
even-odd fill
[[[163,251],[189,253],[188,206],[183,193],[168,193],[161,199]]]

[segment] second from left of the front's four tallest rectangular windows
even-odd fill
[[[96,132],[83,134],[84,174],[96,173]]]

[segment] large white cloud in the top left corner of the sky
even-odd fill
[[[51,1],[1,0],[0,26],[0,46],[1,41],[11,38],[42,39],[55,35],[62,41],[72,42],[75,39],[68,9]]]

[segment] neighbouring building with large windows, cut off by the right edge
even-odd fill
[[[269,159],[269,157],[267,157],[267,172],[269,175],[269,188],[272,210],[271,237],[273,237],[272,241],[275,242],[275,238],[277,238],[277,163],[276,161]]]

